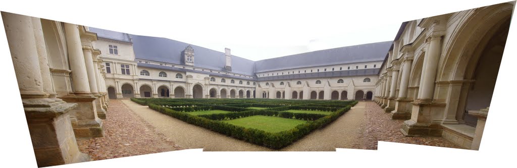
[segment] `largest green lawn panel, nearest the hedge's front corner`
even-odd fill
[[[223,122],[245,128],[260,129],[267,132],[280,132],[293,129],[297,125],[306,123],[307,121],[282,117],[255,115],[239,119],[224,120]]]

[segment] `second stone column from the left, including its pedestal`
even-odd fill
[[[75,136],[78,138],[99,137],[103,136],[102,120],[97,117],[97,97],[90,92],[88,72],[86,70],[86,64],[93,64],[92,56],[89,55],[90,63],[86,63],[79,28],[82,27],[65,23],[68,60],[70,62],[70,69],[72,70],[74,93],[63,97],[63,100],[78,104],[77,108],[71,110],[71,113],[75,114],[75,118],[77,118],[77,121],[72,122]],[[92,77],[95,78],[93,75]]]

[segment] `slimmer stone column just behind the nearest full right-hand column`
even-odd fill
[[[411,54],[411,55],[409,55]],[[402,69],[402,77],[400,81],[400,90],[399,90],[399,98],[396,99],[395,110],[391,112],[391,119],[409,119],[411,118],[410,109],[407,108],[408,103],[413,101],[412,99],[407,99],[407,88],[409,85],[409,74],[411,71],[411,66],[413,64],[413,55],[412,53],[406,53],[404,58],[404,65]]]

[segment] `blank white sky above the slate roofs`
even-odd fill
[[[2,2],[0,10],[165,37],[220,52],[230,48],[233,55],[261,60],[390,41],[404,21],[505,1],[84,2],[10,1]]]

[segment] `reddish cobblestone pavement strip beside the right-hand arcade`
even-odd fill
[[[377,141],[461,148],[442,137],[406,137],[400,131],[404,120],[391,120],[390,113],[384,112],[375,102],[366,103],[365,117],[359,130],[362,134],[353,148],[377,149]]]

